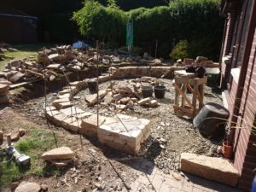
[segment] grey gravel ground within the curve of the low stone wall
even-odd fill
[[[160,103],[158,108],[144,108],[135,106],[134,110],[125,109],[121,112],[138,118],[150,119],[151,135],[138,156],[154,160],[154,164],[163,172],[178,171],[180,154],[183,152],[218,156],[218,145],[211,143],[194,128],[192,119],[177,117],[174,115],[172,104],[174,102],[175,90],[172,86],[172,79],[161,79],[166,85],[166,98],[157,100]],[[117,85],[128,85],[131,79],[114,80]],[[106,89],[109,82],[99,85],[100,90]],[[89,90],[82,90],[75,97],[77,106],[87,112],[96,113],[96,106],[88,107],[85,102]],[[191,94],[190,94],[191,95]],[[47,101],[55,99],[55,94],[50,93]],[[221,96],[212,93],[210,87],[205,89],[205,102],[218,102],[222,104]],[[19,110],[36,119],[38,124],[45,123],[44,119],[44,97],[32,99],[19,106]],[[101,106],[99,113],[104,116],[113,116],[114,111]]]

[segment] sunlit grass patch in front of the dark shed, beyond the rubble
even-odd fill
[[[37,56],[38,50],[42,49],[43,47],[50,48],[54,47],[55,44],[20,44],[20,45],[13,45],[13,48],[18,49],[18,52],[5,52],[4,55],[9,55],[15,57],[15,60],[22,60],[24,58],[28,58],[30,56]],[[0,71],[3,71],[4,66],[10,60],[0,61]]]

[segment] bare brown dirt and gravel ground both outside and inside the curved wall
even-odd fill
[[[173,113],[174,88],[172,80],[162,79],[166,85],[166,98],[158,100],[158,108],[143,108],[135,106],[134,110],[121,113],[150,119],[151,135],[137,156],[120,153],[119,151],[102,146],[95,139],[75,134],[65,129],[48,124],[44,118],[44,96],[30,99],[27,102],[22,98],[16,100],[12,108],[2,109],[0,115],[1,125],[6,128],[3,131],[15,131],[20,122],[39,125],[44,129],[50,129],[55,133],[56,146],[68,146],[78,155],[74,164],[59,170],[55,176],[49,177],[25,177],[22,180],[44,183],[49,191],[127,191],[132,181],[137,177],[135,170],[143,160],[150,160],[165,173],[179,171],[179,158],[183,152],[217,156],[218,145],[201,137],[195,130],[192,120],[177,117]],[[116,84],[129,84],[131,79],[115,80]],[[100,89],[106,89],[109,82],[100,84]],[[43,90],[42,90],[43,91]],[[87,107],[84,96],[90,94],[89,90],[80,91],[77,95],[77,106],[85,111],[96,112],[96,107]],[[55,93],[47,95],[49,103],[55,99]],[[205,102],[221,103],[221,96],[212,93],[210,87],[206,87]],[[114,112],[103,106],[100,114],[113,116]],[[5,189],[4,191],[9,191]]]

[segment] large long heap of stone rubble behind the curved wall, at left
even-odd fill
[[[108,55],[96,55],[95,49],[89,49],[84,53],[78,49],[72,49],[71,45],[56,46],[51,49],[43,49],[38,52],[38,58],[26,58],[23,60],[9,61],[0,78],[9,80],[15,84],[36,79],[56,79],[63,72],[78,72],[95,66],[99,61],[110,62]]]

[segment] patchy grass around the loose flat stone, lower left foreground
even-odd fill
[[[31,166],[21,167],[15,164],[15,160],[0,164],[0,191],[10,183],[26,176],[47,177],[57,173],[55,167],[48,167],[40,156],[47,149],[55,148],[55,137],[52,131],[43,130],[38,127],[28,132],[28,138],[21,138],[15,143],[15,148],[21,154],[31,157]],[[0,162],[8,161],[9,158],[0,156]]]

